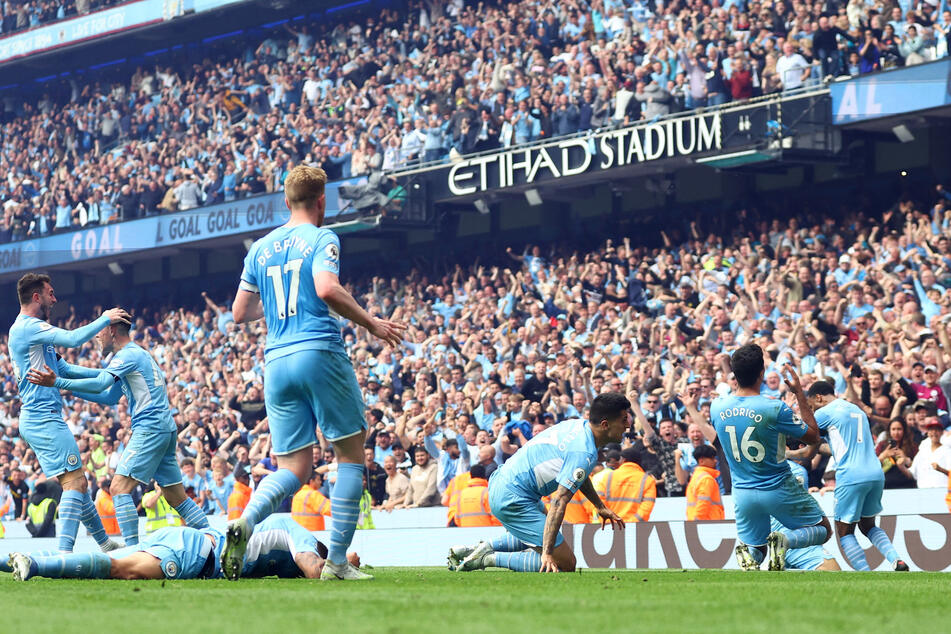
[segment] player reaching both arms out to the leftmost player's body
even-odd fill
[[[102,356],[115,353],[109,366],[90,378],[63,379],[47,367],[47,372],[31,369],[31,383],[71,390],[81,398],[115,405],[125,394],[132,414],[132,439],[122,452],[109,493],[116,507],[116,520],[126,546],[139,543],[139,516],[132,491],[139,482],[153,478],[162,487],[168,503],[192,528],[208,526],[205,514],[185,494],[182,472],[175,458],[178,430],[165,389],[165,375],[152,355],[129,337],[129,324],[118,323],[103,329],[98,337]]]

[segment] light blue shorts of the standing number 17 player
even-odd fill
[[[268,361],[264,405],[279,456],[316,444],[318,425],[330,441],[367,428],[350,358],[336,350],[299,350]]]

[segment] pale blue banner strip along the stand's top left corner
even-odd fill
[[[55,24],[40,26],[0,40],[0,62],[60,46],[76,44],[108,33],[117,33],[171,20],[194,8],[196,13],[244,0],[139,0],[96,11]]]

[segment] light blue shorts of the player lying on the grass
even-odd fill
[[[166,579],[215,579],[221,576],[219,558],[224,544],[224,533],[214,528],[166,526],[146,537],[138,550],[161,562]]]

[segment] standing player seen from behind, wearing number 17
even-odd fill
[[[241,517],[228,524],[222,569],[231,580],[240,576],[254,525],[310,477],[317,425],[333,443],[338,464],[321,579],[372,578],[346,558],[360,515],[367,425],[337,315],[391,346],[399,345],[405,326],[370,316],[340,285],[340,241],[321,228],[326,182],[319,168],[300,165],[288,174],[284,197],[290,220],[252,245],[232,306],[236,322],[264,317],[267,324],[264,402],[279,468],[261,481]]]

